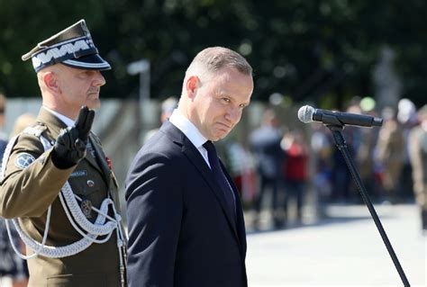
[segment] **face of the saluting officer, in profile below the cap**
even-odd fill
[[[69,109],[78,113],[82,105],[90,109],[99,108],[99,91],[105,85],[104,76],[95,70],[60,66],[59,91]]]

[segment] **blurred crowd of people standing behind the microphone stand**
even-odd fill
[[[417,111],[404,98],[395,108],[376,111],[375,100],[368,97],[355,98],[343,111],[384,120],[380,128],[342,130],[350,156],[373,203],[408,203],[415,195],[427,229],[427,106]],[[363,203],[331,130],[322,123],[313,122],[310,130],[286,126],[274,107],[267,107],[248,143],[226,149],[254,229],[261,229],[261,211],[269,213],[276,229],[290,219],[303,223],[309,194],[319,216],[329,203]]]

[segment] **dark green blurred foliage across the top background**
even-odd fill
[[[30,62],[21,56],[53,33],[85,18],[114,69],[104,97],[136,97],[138,76],[126,67],[150,59],[151,97],[180,94],[195,54],[208,46],[236,49],[255,72],[253,97],[273,93],[294,102],[341,107],[353,95],[375,94],[372,68],[388,44],[396,52],[403,96],[425,103],[427,4],[422,0],[0,0],[0,89],[35,96]]]

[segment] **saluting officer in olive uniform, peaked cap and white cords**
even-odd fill
[[[5,150],[0,216],[23,238],[31,286],[123,286],[118,185],[90,131],[105,84],[100,71],[111,67],[84,20],[23,55],[30,58],[42,106],[36,124]]]

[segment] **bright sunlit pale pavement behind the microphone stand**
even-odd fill
[[[376,205],[411,286],[426,286],[427,236],[413,204]],[[272,230],[248,227],[250,287],[403,286],[366,205],[332,205],[328,218]],[[250,223],[250,214],[247,214]]]

